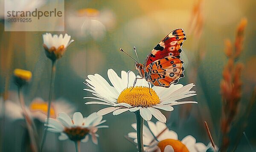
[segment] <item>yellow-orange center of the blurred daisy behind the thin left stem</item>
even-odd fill
[[[36,112],[40,111],[41,113],[47,115],[48,103],[47,102],[32,102],[29,106],[30,111]],[[50,118],[56,118],[54,107],[51,106],[50,109]]]

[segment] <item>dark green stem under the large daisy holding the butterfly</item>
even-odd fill
[[[144,119],[140,116],[140,111],[134,112],[136,115],[136,123],[137,123],[137,141],[138,141],[138,149],[139,152],[144,152],[143,148],[143,126]]]

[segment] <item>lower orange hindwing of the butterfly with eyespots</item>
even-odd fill
[[[183,61],[174,56],[158,59],[146,67],[148,80],[155,86],[170,87],[184,77]]]

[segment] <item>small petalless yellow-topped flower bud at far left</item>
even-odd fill
[[[26,82],[29,82],[32,77],[32,73],[30,71],[23,69],[15,69],[13,74],[15,76],[15,84],[17,84],[19,87],[26,84]]]

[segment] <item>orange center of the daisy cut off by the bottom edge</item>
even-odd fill
[[[174,149],[175,152],[189,152],[189,149],[187,149],[187,147],[183,143],[181,143],[181,141],[179,141],[179,140],[165,139],[163,141],[160,141],[157,144],[157,146],[160,148],[161,152],[164,151],[164,149],[167,145],[172,146],[172,148]]]

